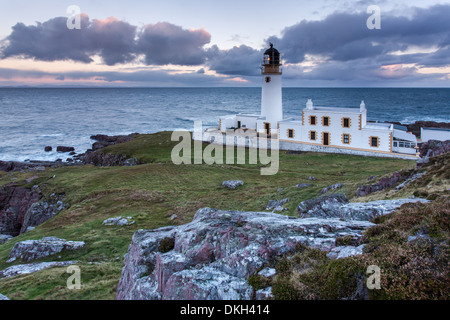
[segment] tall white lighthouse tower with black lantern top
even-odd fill
[[[265,117],[264,132],[267,134],[278,133],[278,121],[283,120],[280,66],[280,52],[271,43],[264,52],[261,68],[261,116]]]

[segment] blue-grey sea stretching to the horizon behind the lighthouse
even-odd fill
[[[450,88],[283,88],[285,116],[315,106],[359,108],[368,120],[450,122]],[[57,146],[89,149],[95,134],[217,126],[219,116],[259,113],[261,88],[0,88],[0,160],[65,160]],[[45,152],[52,146],[52,152]]]

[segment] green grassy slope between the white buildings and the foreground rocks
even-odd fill
[[[39,184],[47,196],[65,193],[71,206],[35,230],[0,245],[0,270],[10,266],[5,261],[18,241],[43,236],[82,240],[87,243],[86,249],[42,259],[77,260],[82,288],[68,290],[70,275],[65,268],[54,268],[0,279],[0,292],[12,299],[114,299],[122,257],[138,229],[187,223],[201,207],[262,211],[269,199],[290,198],[285,214],[295,215],[296,205],[318,196],[323,187],[343,183],[338,192],[352,197],[367,177],[414,165],[411,161],[373,157],[280,152],[278,174],[261,176],[259,165],[174,165],[170,155],[176,144],[170,141],[169,132],[140,135],[103,151],[151,163],[135,167],[62,167],[37,173],[39,178],[30,187]],[[32,175],[0,173],[0,184],[11,178],[25,184],[24,179]],[[311,182],[308,176],[316,177],[313,186],[295,187],[297,183]],[[222,181],[232,179],[242,179],[245,185],[236,190],[219,187]],[[278,188],[283,189],[277,192]],[[170,219],[173,214],[178,216],[174,221]],[[119,215],[132,216],[136,223],[126,227],[102,225],[106,218]]]

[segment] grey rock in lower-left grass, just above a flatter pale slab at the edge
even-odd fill
[[[83,241],[67,241],[56,237],[44,237],[41,240],[25,240],[17,242],[9,254],[8,263],[16,259],[25,262],[60,253],[63,250],[84,248]]]

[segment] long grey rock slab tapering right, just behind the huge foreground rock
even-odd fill
[[[337,218],[341,220],[370,221],[388,214],[405,203],[429,202],[425,199],[378,200],[371,202],[348,202],[344,194],[324,196],[301,202],[297,211],[300,218]]]

